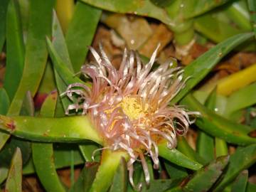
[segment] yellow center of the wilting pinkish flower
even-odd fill
[[[144,117],[146,111],[149,109],[149,105],[146,104],[144,109],[142,106],[142,100],[139,97],[126,96],[119,103],[119,107],[122,107],[124,113],[131,119],[139,119],[139,117]]]

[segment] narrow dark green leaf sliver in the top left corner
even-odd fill
[[[1,1],[0,6],[0,52],[4,46],[4,41],[6,40],[6,12],[9,4],[9,0]]]

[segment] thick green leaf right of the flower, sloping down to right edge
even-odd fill
[[[255,138],[247,135],[253,130],[252,127],[231,122],[211,112],[191,94],[184,97],[181,103],[186,105],[189,110],[201,113],[201,116],[196,119],[196,125],[204,132],[233,144],[247,145],[256,143]]]

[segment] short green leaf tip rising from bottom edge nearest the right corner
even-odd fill
[[[248,171],[242,171],[232,185],[232,192],[245,192],[248,180]]]

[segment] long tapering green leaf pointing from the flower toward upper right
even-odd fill
[[[181,100],[181,98],[196,86],[198,82],[200,82],[210,72],[210,70],[212,70],[212,68],[230,52],[230,50],[233,50],[233,48],[238,46],[240,43],[252,38],[252,36],[253,33],[242,33],[228,38],[214,48],[208,50],[206,53],[190,63],[190,65],[186,66],[186,68],[184,68],[183,78],[186,79],[190,77],[190,79],[187,80],[186,87],[184,87],[181,92],[174,97],[174,100],[171,100],[171,103],[174,104]]]

